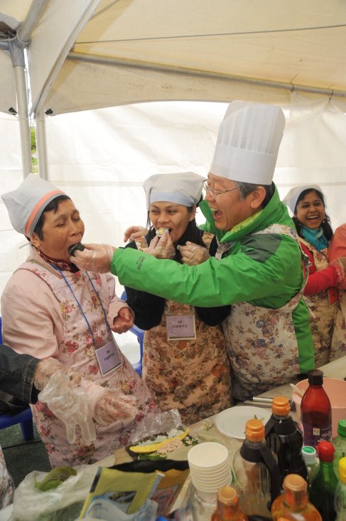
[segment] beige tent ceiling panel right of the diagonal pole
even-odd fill
[[[291,82],[346,94],[342,23],[343,0],[103,0],[45,109],[58,114],[183,99],[285,103]]]

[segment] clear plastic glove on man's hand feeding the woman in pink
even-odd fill
[[[117,248],[109,244],[85,244],[85,250],[75,251],[75,256],[70,261],[82,270],[94,271],[94,273],[109,273],[111,261]]]

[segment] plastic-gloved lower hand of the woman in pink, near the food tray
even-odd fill
[[[100,425],[110,425],[114,421],[133,421],[138,409],[136,398],[126,396],[117,389],[105,389],[94,406],[94,419]]]

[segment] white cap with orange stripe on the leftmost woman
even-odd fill
[[[16,190],[2,194],[1,199],[9,211],[13,228],[31,237],[45,207],[60,195],[66,194],[38,174],[29,174]]]

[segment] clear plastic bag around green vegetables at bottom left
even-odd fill
[[[80,515],[97,468],[82,465],[76,470],[77,475],[46,492],[35,487],[35,477],[41,481],[48,473],[33,470],[26,475],[14,493],[12,520],[74,521]]]

